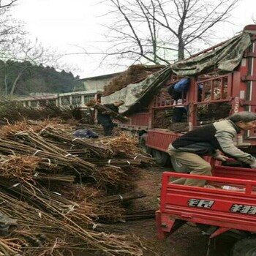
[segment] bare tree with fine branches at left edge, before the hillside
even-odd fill
[[[1,65],[1,68],[4,69],[2,72],[4,73],[4,95],[10,97],[13,97],[20,78],[29,69],[33,69],[39,64],[55,66],[59,69],[64,68],[64,64],[59,61],[61,55],[56,50],[43,47],[37,39],[27,39],[28,33],[24,29],[23,23],[12,18],[10,14],[10,7],[15,1],[0,0],[0,59],[4,61],[4,65]],[[23,68],[14,78],[10,72],[12,65],[7,64],[8,60],[23,61]],[[65,68],[67,69],[67,65]],[[11,84],[7,85],[7,80],[11,80]],[[8,91],[8,87],[11,88],[10,91]]]

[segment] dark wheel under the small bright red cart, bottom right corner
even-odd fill
[[[242,239],[233,246],[231,256],[255,256],[256,238]]]

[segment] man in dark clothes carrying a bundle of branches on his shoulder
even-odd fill
[[[124,105],[123,100],[118,100],[111,104],[104,104],[105,107],[109,108],[110,110],[113,110],[116,113],[119,113],[118,107],[120,107],[121,105]],[[104,135],[111,136],[114,124],[112,121],[113,116],[110,116],[110,111],[98,112],[97,119],[98,124],[101,124],[104,129]]]

